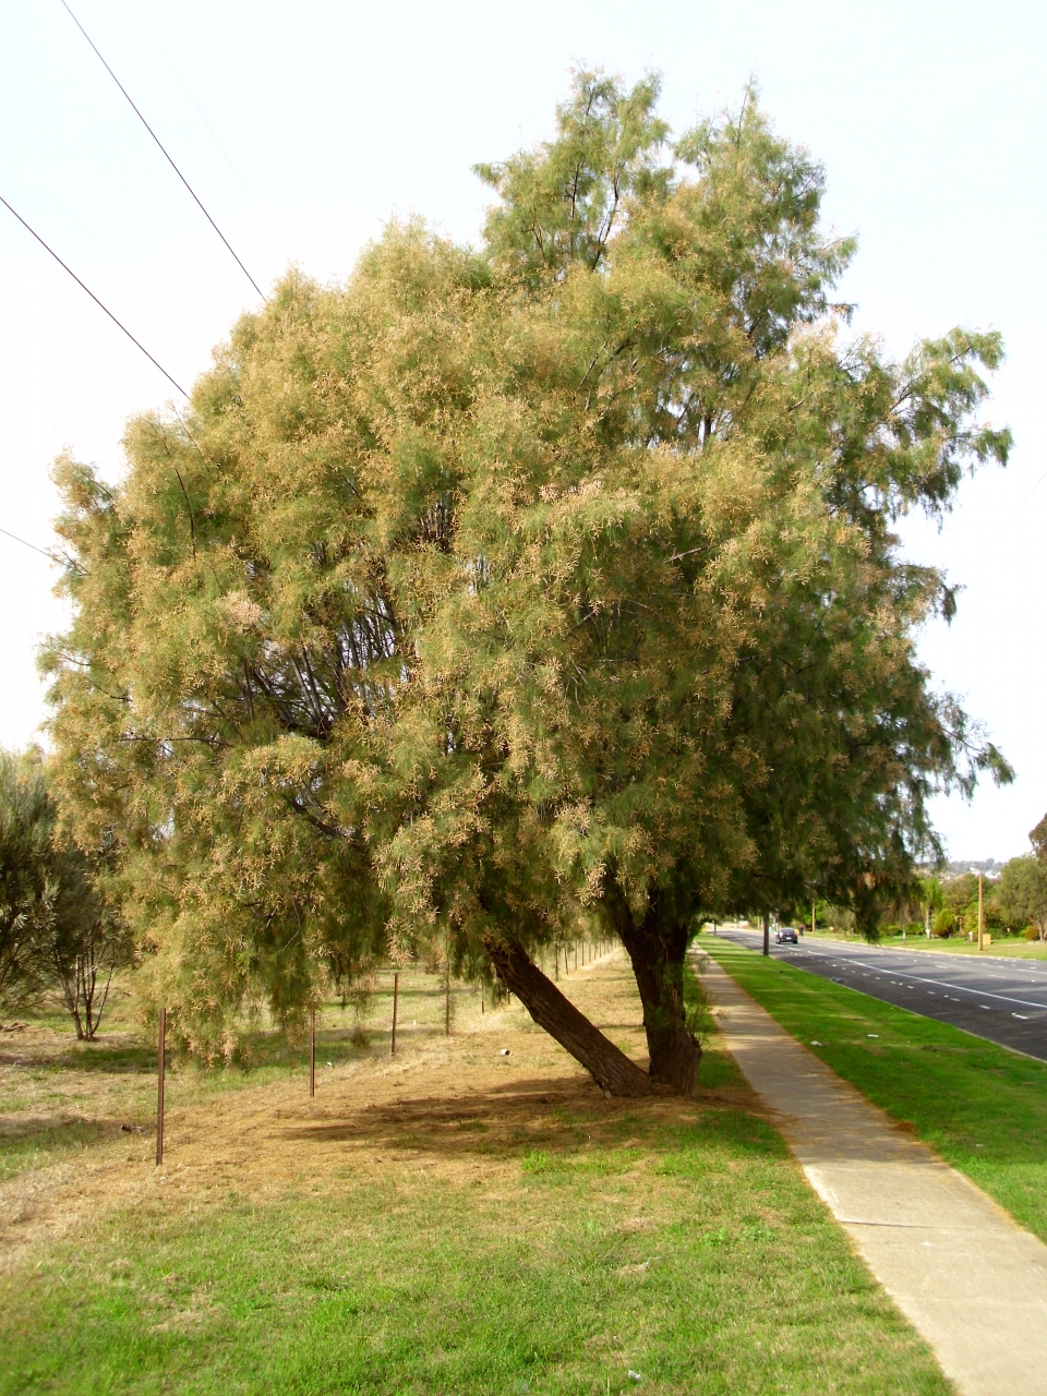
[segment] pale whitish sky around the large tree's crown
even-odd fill
[[[826,221],[859,235],[854,328],[898,355],[955,324],[1004,332],[988,416],[1013,429],[1012,463],[965,483],[941,532],[905,536],[963,586],[952,627],[923,641],[935,683],[1018,771],[969,805],[937,801],[938,828],[955,859],[1027,849],[1047,810],[1043,4],[70,3],[264,289],[290,262],[345,278],[392,215],[475,239],[487,191],[470,166],[547,135],[575,63],[660,71],[677,130],[755,77],[826,166]],[[59,0],[0,11],[0,194],[188,385],[258,297]],[[173,394],[1,207],[0,297],[0,528],[47,547],[56,454],[119,477],[123,423]],[[6,745],[45,715],[52,582],[0,535]]]

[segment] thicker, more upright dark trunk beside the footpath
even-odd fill
[[[662,917],[656,892],[651,893],[642,920],[634,917],[617,885],[604,886],[603,900],[632,962],[644,1005],[651,1079],[690,1096],[698,1085],[702,1048],[687,1026],[684,1004],[687,923],[681,917]]]

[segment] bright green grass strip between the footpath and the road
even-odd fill
[[[845,1081],[1047,1241],[1047,1062],[727,941],[702,937],[702,949]]]

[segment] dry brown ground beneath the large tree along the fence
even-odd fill
[[[561,987],[645,1064],[639,1000],[621,952],[579,969]],[[438,1018],[440,990],[430,986],[427,993],[429,1016]],[[377,1022],[376,1016],[370,1025],[374,1032]],[[27,1039],[17,1050],[31,1057],[54,1046]],[[497,1012],[480,1012],[479,1002],[459,1009],[450,1037],[431,1020],[417,1026],[408,1019],[395,1058],[387,1037],[345,1065],[328,1067],[321,1048],[313,1100],[304,1075],[295,1075],[169,1108],[159,1168],[152,1134],[142,1125],[121,1125],[130,1110],[141,1114],[142,1090],[152,1090],[152,1082],[140,1078],[130,1096],[119,1074],[113,1081],[70,1067],[68,1076],[64,1089],[78,1097],[94,1143],[0,1185],[3,1268],[113,1208],[194,1208],[230,1194],[272,1201],[295,1189],[341,1187],[348,1173],[357,1182],[371,1178],[398,1189],[424,1185],[438,1174],[479,1185],[494,1198],[510,1173],[515,1177],[522,1154],[577,1150],[571,1121],[579,1115],[588,1121],[585,1146],[599,1148],[606,1129],[623,1118],[692,1120],[713,1103],[755,1108],[744,1087],[720,1087],[694,1100],[607,1100],[515,1001]],[[618,1141],[623,1149],[630,1143]]]

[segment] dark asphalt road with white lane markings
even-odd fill
[[[725,928],[720,937],[759,951],[761,931]],[[1047,1061],[1047,962],[935,955],[812,941],[775,945],[797,969],[857,988],[924,1018]]]

